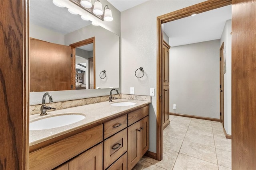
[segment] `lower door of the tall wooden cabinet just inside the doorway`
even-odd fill
[[[162,93],[162,120],[163,120],[163,127],[169,125],[169,86],[163,86],[163,93]]]

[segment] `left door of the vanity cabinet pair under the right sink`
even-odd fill
[[[131,170],[140,160],[140,121],[128,127],[127,169]]]

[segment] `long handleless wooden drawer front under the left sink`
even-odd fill
[[[103,125],[63,139],[29,154],[30,170],[52,169],[70,158],[100,143],[103,139]]]

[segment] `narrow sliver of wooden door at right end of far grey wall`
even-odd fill
[[[220,47],[220,122],[224,127],[224,42]],[[226,68],[225,68],[226,69]]]

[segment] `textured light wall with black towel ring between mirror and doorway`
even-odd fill
[[[156,17],[202,1],[150,0],[121,12],[121,89],[130,94],[150,95],[156,89]],[[143,67],[145,75],[138,79],[134,72]],[[150,151],[156,152],[156,96],[150,104]]]

